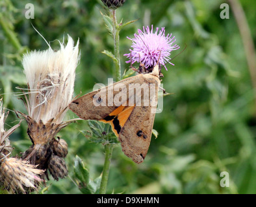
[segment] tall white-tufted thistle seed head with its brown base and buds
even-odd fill
[[[22,158],[38,165],[38,169],[45,169],[47,179],[47,169],[56,180],[68,175],[63,160],[68,153],[68,144],[55,136],[75,121],[63,122],[63,119],[73,96],[78,45],[79,41],[74,47],[73,39],[68,36],[67,45],[60,43],[60,50],[34,51],[26,54],[22,62],[28,83],[23,102],[28,114],[19,114],[27,121],[27,134],[32,142]],[[53,166],[52,160],[58,160],[58,163],[59,158],[61,165]]]

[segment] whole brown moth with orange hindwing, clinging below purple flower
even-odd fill
[[[84,120],[109,123],[120,140],[123,153],[139,164],[149,149],[159,85],[157,63],[152,72],[137,74],[85,94],[73,100],[69,108]]]

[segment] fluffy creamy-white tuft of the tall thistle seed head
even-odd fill
[[[25,105],[31,118],[62,122],[72,100],[79,59],[79,40],[74,46],[70,36],[66,45],[60,43],[59,50],[49,48],[24,55],[22,64],[29,87]]]

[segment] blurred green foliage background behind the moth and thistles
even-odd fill
[[[34,5],[34,19],[25,18],[25,5]],[[163,112],[156,114],[151,146],[142,164],[135,164],[114,148],[107,193],[256,193],[256,104],[244,43],[229,5],[229,19],[220,18],[220,0],[131,1],[118,8],[118,21],[138,19],[120,32],[122,72],[129,69],[123,54],[129,52],[130,38],[145,25],[165,27],[181,49],[186,50],[162,70]],[[256,1],[240,0],[256,41]],[[75,95],[92,91],[95,83],[107,84],[114,77],[112,60],[102,54],[113,52],[113,41],[105,28],[101,1],[92,0],[1,0],[0,1],[0,94],[8,109],[26,113],[19,96],[25,87],[21,58],[27,50],[45,50],[44,39],[58,49],[57,39],[66,34],[79,38],[81,61],[77,67]],[[243,34],[244,35],[244,34]],[[253,57],[255,58],[255,56]],[[135,66],[135,65],[134,65]],[[138,66],[138,65],[136,65]],[[256,80],[256,78],[255,78]],[[66,119],[76,115],[68,112]],[[12,112],[6,129],[18,122]],[[68,142],[66,179],[47,181],[44,193],[81,193],[75,185],[74,160],[78,155],[90,171],[91,179],[101,174],[103,146],[79,132],[88,129],[86,121],[70,124],[59,135]],[[27,124],[10,136],[19,155],[30,145]],[[229,187],[221,187],[220,173],[229,173]],[[39,193],[42,193],[40,191]]]

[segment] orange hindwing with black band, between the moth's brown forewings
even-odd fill
[[[134,106],[125,107],[123,105],[120,105],[120,107],[116,108],[114,111],[112,111],[112,113],[110,113],[108,116],[99,121],[109,123],[112,127],[112,131],[114,132],[114,134],[118,136],[123,125],[131,115],[133,109]]]

